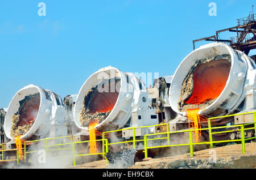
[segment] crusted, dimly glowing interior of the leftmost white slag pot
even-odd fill
[[[40,94],[26,96],[19,101],[19,110],[11,115],[11,137],[26,134],[34,125],[40,106]]]

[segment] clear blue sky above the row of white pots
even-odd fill
[[[46,3],[46,16],[38,15],[39,2]],[[209,16],[210,2],[216,3],[217,16]],[[192,40],[235,26],[253,3],[1,0],[0,108],[28,84],[61,97],[76,94],[93,72],[110,65],[172,75],[193,50]]]

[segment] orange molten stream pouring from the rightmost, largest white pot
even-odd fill
[[[187,109],[187,116],[188,119],[192,121],[192,123],[189,121],[189,128],[194,127],[195,129],[201,128],[200,125],[200,117],[198,115],[200,108],[198,109]],[[199,142],[199,134],[201,135],[200,130],[196,130],[195,132],[195,141],[196,143]]]

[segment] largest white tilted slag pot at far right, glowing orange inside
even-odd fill
[[[208,117],[253,111],[255,68],[245,53],[222,42],[201,46],[188,54],[175,71],[169,92],[171,108],[183,116],[188,116],[188,110],[198,109],[204,127],[208,126]],[[241,121],[220,118],[212,120],[212,125]]]

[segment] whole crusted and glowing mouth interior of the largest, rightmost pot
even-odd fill
[[[181,87],[180,111],[206,108],[220,96],[229,77],[230,58],[230,54],[222,54],[196,61]]]

